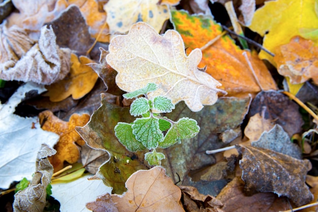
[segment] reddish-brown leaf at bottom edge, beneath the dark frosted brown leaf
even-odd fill
[[[290,209],[287,198],[277,197],[273,193],[258,193],[252,196],[244,194],[244,181],[235,177],[216,196],[227,212],[277,212]]]

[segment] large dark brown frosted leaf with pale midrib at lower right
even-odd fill
[[[279,197],[290,198],[296,206],[313,199],[305,184],[310,165],[308,160],[260,147],[237,145],[237,149],[243,154],[240,167],[247,193],[273,192]]]

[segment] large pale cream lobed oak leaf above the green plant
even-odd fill
[[[184,101],[193,111],[214,104],[218,92],[225,94],[216,88],[219,82],[197,68],[202,57],[199,49],[185,55],[176,31],[160,36],[148,24],[138,22],[128,35],[112,39],[109,52],[107,63],[118,72],[116,83],[126,92],[156,83],[160,88],[149,94],[149,99],[162,95],[173,104]]]

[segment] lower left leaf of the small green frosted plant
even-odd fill
[[[119,122],[115,127],[115,136],[131,152],[144,150],[142,143],[136,140],[131,124]]]

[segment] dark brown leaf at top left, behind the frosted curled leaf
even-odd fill
[[[57,45],[68,47],[79,55],[86,54],[93,43],[85,19],[75,5],[71,5],[57,19],[46,24],[52,25]]]

